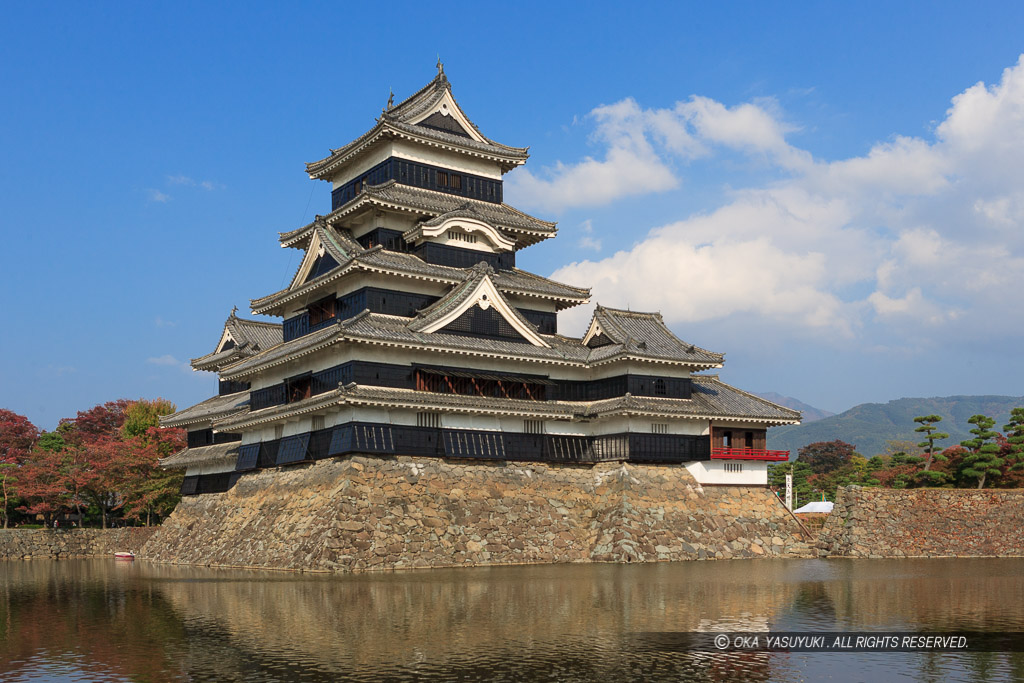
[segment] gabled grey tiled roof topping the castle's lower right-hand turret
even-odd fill
[[[688,344],[672,334],[660,313],[643,313],[598,305],[591,326],[600,327],[611,344],[594,348],[591,362],[622,355],[671,360],[688,359],[708,366],[721,366],[721,353]]]

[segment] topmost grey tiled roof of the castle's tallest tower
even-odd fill
[[[415,94],[396,106],[385,110],[381,114],[380,119],[377,120],[377,124],[369,131],[344,146],[331,150],[331,154],[328,157],[306,164],[306,172],[313,178],[324,177],[328,172],[343,164],[367,145],[373,144],[380,137],[401,136],[402,134],[439,142],[456,150],[469,152],[470,154],[476,153],[477,155],[503,160],[507,168],[517,166],[526,160],[529,156],[527,147],[511,147],[487,138],[476,127],[476,124],[469,121],[469,117],[466,117],[465,113],[462,113],[463,117],[469,122],[473,132],[483,138],[482,142],[470,137],[413,123],[413,121],[419,119],[432,106],[436,105],[445,92],[451,92],[451,90],[452,86],[449,83],[447,77],[443,73],[438,74],[434,80]],[[456,102],[456,106],[458,106],[458,102]],[[462,110],[462,108],[459,109],[460,111]]]

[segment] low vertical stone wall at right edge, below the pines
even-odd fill
[[[1024,557],[1024,489],[840,490],[822,556]]]

